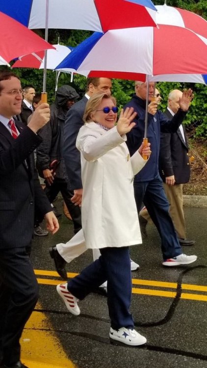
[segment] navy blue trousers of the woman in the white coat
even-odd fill
[[[68,290],[81,300],[107,280],[111,327],[115,330],[120,327],[133,329],[133,318],[129,312],[131,301],[129,248],[103,248],[100,252],[98,260],[68,282]]]

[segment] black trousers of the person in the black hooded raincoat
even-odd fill
[[[44,191],[51,203],[54,201],[59,192],[62,194],[62,197],[73,220],[74,233],[78,233],[78,231],[82,228],[81,211],[79,206],[75,206],[71,202],[74,192],[73,190],[68,189],[68,183],[64,179],[55,178],[52,185],[46,184]]]

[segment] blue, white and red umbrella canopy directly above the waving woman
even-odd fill
[[[169,40],[176,42],[169,42]],[[207,39],[178,26],[159,25],[95,32],[56,68],[139,79],[138,74],[207,74]],[[97,74],[97,73],[96,73]]]

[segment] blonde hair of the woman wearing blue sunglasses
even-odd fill
[[[110,96],[105,92],[97,92],[93,94],[85,106],[85,112],[83,115],[83,121],[85,123],[89,123],[92,121],[91,113],[92,111],[97,110],[103,99],[112,100],[114,105],[116,106],[116,99],[113,96]]]

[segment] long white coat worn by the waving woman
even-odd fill
[[[87,248],[142,243],[133,177],[147,161],[138,151],[130,158],[126,140],[116,127],[105,131],[94,122],[79,130],[76,145],[81,153],[82,229]]]

